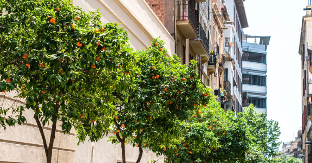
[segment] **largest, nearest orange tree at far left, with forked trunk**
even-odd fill
[[[58,120],[64,133],[76,126],[81,141],[90,126],[105,132],[115,117],[112,103],[127,100],[110,87],[131,88],[137,71],[127,33],[116,24],[102,25],[100,13],[85,13],[69,0],[0,1],[0,12],[0,92],[17,93],[16,100],[26,102],[17,107],[2,102],[1,126],[21,125],[23,113],[33,110],[47,162]],[[49,122],[47,143],[42,127]],[[96,141],[102,135],[89,136]]]

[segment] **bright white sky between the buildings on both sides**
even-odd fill
[[[308,0],[246,0],[244,4],[249,24],[244,33],[271,36],[267,48],[268,118],[279,122],[281,141],[294,140],[302,124],[298,50]]]

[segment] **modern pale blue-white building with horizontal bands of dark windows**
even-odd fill
[[[243,92],[248,93],[248,99],[243,102],[243,107],[253,104],[260,113],[267,112],[266,107],[266,49],[271,36],[243,36]],[[248,80],[249,79],[249,80]]]

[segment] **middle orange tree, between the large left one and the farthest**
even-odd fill
[[[149,147],[161,135],[173,137],[178,133],[178,121],[188,118],[188,111],[196,110],[209,100],[210,93],[194,70],[195,61],[181,65],[179,58],[166,56],[163,41],[155,39],[147,50],[139,51],[140,79],[129,90],[129,102],[117,103],[112,143],[121,143],[125,163],[125,143],[139,148],[140,162],[143,148]]]

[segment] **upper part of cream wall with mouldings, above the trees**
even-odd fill
[[[121,23],[129,32],[129,40],[136,50],[150,46],[150,41],[160,36],[166,42],[170,55],[174,54],[174,41],[154,12],[144,0],[73,0],[85,11],[100,8],[102,22]]]

